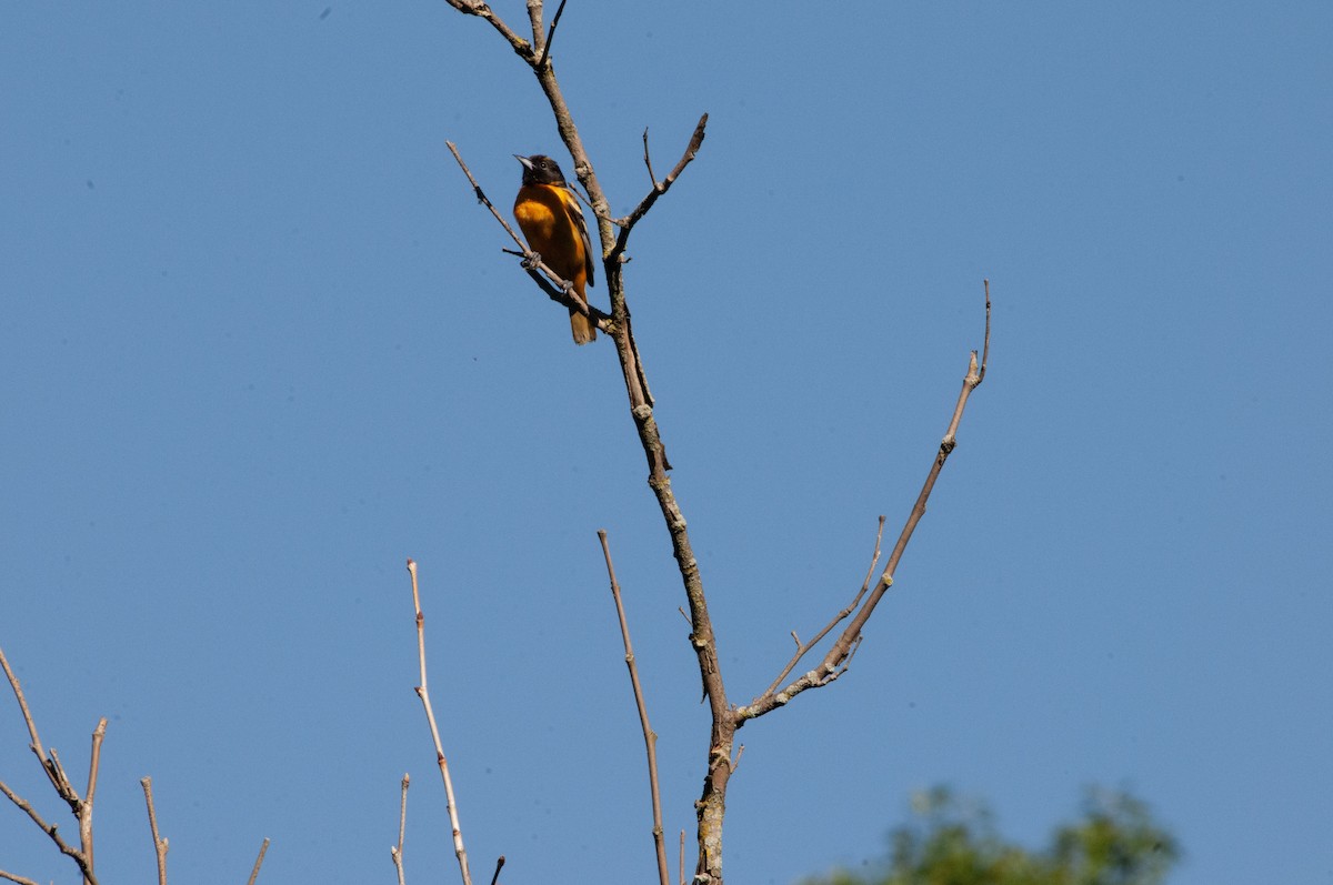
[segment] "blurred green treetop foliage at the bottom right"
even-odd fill
[[[1161,885],[1180,849],[1125,793],[1089,790],[1082,817],[1058,826],[1045,850],[1004,841],[989,809],[944,786],[912,797],[914,820],[889,834],[870,873],[834,870],[804,885]]]

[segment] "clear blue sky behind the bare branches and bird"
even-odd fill
[[[644,127],[663,171],[710,115],[628,281],[734,700],[901,525],[994,296],[852,670],[741,732],[729,878],[877,857],[936,782],[1032,845],[1130,788],[1181,885],[1333,877],[1330,37],[1326,3],[571,0],[615,212]],[[391,881],[405,770],[408,881],[452,878],[408,556],[479,877],[652,881],[596,529],[672,833],[705,710],[613,352],[444,149],[503,207],[559,152],[508,47],[444,3],[11,4],[0,119],[0,642],[68,768],[111,718],[103,881],[152,874],[144,774],[172,881],[263,837],[260,881]],[[0,777],[60,818],[25,744],[0,701]],[[0,846],[72,878],[12,808]]]

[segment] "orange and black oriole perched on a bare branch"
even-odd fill
[[[551,157],[541,153],[513,156],[523,164],[523,187],[513,201],[513,217],[532,251],[563,280],[572,283],[587,304],[584,284],[593,284],[592,243],[579,197]],[[569,309],[569,328],[575,344],[588,344],[597,337],[597,324],[573,308]]]

